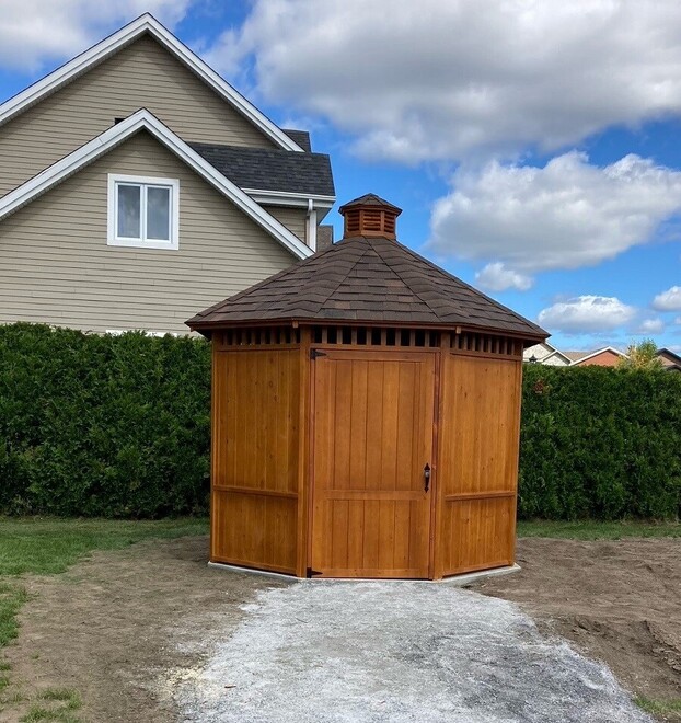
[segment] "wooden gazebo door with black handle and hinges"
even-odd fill
[[[324,351],[312,362],[312,571],[428,577],[435,355]]]

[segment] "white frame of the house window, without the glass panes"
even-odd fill
[[[141,195],[141,238],[127,238],[117,234],[118,225],[118,184],[142,186]],[[147,240],[147,191],[148,186],[160,186],[170,188],[170,241],[159,239]],[[159,179],[148,175],[120,175],[108,174],[108,219],[106,230],[106,243],[109,246],[135,246],[136,249],[168,249],[177,251],[180,249],[180,181],[177,179]]]

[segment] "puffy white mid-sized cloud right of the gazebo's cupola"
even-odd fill
[[[649,241],[681,209],[681,172],[626,156],[598,168],[576,151],[544,168],[460,168],[431,215],[429,248],[509,273],[578,268]]]

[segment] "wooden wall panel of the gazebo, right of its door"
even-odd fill
[[[513,563],[521,365],[443,354],[436,577]]]

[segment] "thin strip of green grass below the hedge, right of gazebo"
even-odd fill
[[[574,523],[519,521],[518,537],[553,537],[567,540],[621,540],[625,537],[681,537],[681,523]]]

